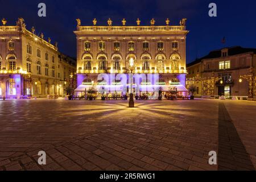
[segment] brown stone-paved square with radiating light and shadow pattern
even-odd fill
[[[243,169],[251,169],[248,163],[256,167],[255,102],[137,101],[136,108],[127,105],[127,101],[0,101],[0,171],[218,170],[208,164],[208,154],[223,149],[218,125],[225,120],[220,119],[224,108],[243,146],[239,163]],[[227,136],[226,130],[221,132]],[[42,150],[47,165],[40,166]],[[236,147],[231,151],[236,152]],[[247,158],[242,160],[243,156]],[[225,169],[233,169],[229,164]]]

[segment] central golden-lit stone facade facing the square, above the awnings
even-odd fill
[[[159,73],[159,82],[170,85],[179,82],[185,86],[186,76],[186,36],[189,31],[185,26],[186,19],[179,26],[171,26],[166,20],[165,26],[81,26],[77,19],[77,91],[84,91],[82,85],[90,82],[97,85],[100,73],[129,73],[129,60],[135,61],[134,73]],[[111,84],[111,83],[109,83]],[[186,90],[180,90],[186,91]]]

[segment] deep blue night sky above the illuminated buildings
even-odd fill
[[[47,6],[47,17],[38,17],[38,3]],[[210,2],[217,4],[217,18],[208,16]],[[6,18],[8,25],[15,24],[23,17],[30,30],[36,28],[36,34],[44,33],[53,42],[59,42],[59,50],[69,56],[76,56],[76,18],[82,25],[92,25],[97,18],[98,25],[106,25],[112,18],[113,25],[121,25],[126,18],[128,25],[136,25],[140,18],[142,25],[149,25],[155,18],[156,25],[164,25],[166,18],[171,24],[179,24],[181,18],[187,18],[187,62],[202,57],[209,51],[229,46],[256,48],[256,1],[208,1],[208,0],[0,0],[0,18]],[[225,36],[226,43],[221,40]]]

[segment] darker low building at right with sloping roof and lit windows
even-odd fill
[[[198,96],[256,96],[256,49],[228,47],[187,65],[187,86]]]

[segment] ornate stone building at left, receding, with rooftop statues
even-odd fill
[[[65,56],[44,40],[43,34],[35,35],[35,28],[26,29],[23,18],[16,26],[0,26],[0,97],[22,98],[62,95],[75,73],[76,61]]]

